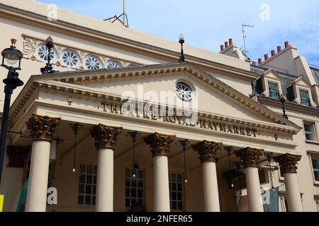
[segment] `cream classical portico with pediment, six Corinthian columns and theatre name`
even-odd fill
[[[147,112],[147,103],[138,97],[118,93],[134,93],[137,83],[143,83],[145,92],[160,93],[172,89],[179,79],[196,89],[198,106],[188,109],[195,119],[164,102],[150,109],[171,108],[172,115]],[[125,114],[123,105],[132,101],[142,105],[141,114]],[[232,147],[229,160],[242,165],[249,210],[262,212],[260,187],[267,183],[259,180],[259,163],[269,152],[279,157],[279,165],[292,161],[286,153],[293,153],[292,136],[298,131],[284,117],[191,64],[33,76],[11,110],[13,130],[23,131],[23,136],[31,132],[33,138],[27,211],[235,211],[239,189],[228,189],[223,178],[235,170],[225,151]],[[69,127],[74,123],[83,126],[76,152]],[[133,131],[138,132],[134,144],[129,136]],[[57,157],[51,158],[50,142],[57,138]],[[189,145],[184,153],[178,141],[185,139]],[[12,135],[12,141],[30,145],[18,134]],[[47,178],[49,167],[54,178]],[[296,172],[288,168],[284,172],[293,209],[298,206],[298,191],[292,188]],[[57,205],[46,205],[48,184],[58,191]]]

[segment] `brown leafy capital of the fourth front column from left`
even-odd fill
[[[191,147],[197,152],[199,160],[203,162],[216,162],[217,152],[221,150],[223,143],[213,141],[201,141]]]

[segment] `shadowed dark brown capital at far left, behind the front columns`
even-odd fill
[[[9,164],[7,167],[24,168],[26,159],[30,153],[31,147],[21,147],[15,145],[6,146],[6,153],[8,154]]]

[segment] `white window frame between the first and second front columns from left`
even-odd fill
[[[81,170],[81,165],[84,165],[85,166],[85,172],[80,172],[80,170]],[[86,173],[86,167],[88,166],[88,165],[91,165],[93,168],[92,168],[92,173],[91,174],[88,174],[88,173]],[[96,168],[96,170],[94,170],[94,168]],[[94,172],[95,171],[95,172]],[[94,194],[94,186],[95,186],[95,189],[96,189],[96,177],[97,177],[97,166],[96,166],[96,164],[91,164],[91,163],[80,163],[79,164],[79,177],[78,177],[78,179],[79,179],[79,182],[78,182],[78,191],[77,191],[77,204],[79,205],[79,206],[95,206],[96,205],[96,199],[95,199],[95,202],[93,201],[94,200],[94,198],[96,198],[96,190],[95,190],[95,194]],[[85,177],[84,177],[84,183],[82,183],[82,182],[80,182],[80,177],[81,177],[81,175],[84,175]],[[91,182],[91,184],[89,184],[89,183],[87,183],[86,182],[86,176],[92,176],[92,182]],[[94,176],[95,176],[95,183],[94,183]],[[79,193],[79,186],[80,185],[84,185],[84,193]],[[91,185],[91,194],[86,194],[85,192],[86,192],[86,185],[87,186],[89,186],[89,185]],[[83,203],[79,203],[79,196],[83,196]],[[90,204],[86,204],[85,203],[85,197],[86,196],[91,196],[91,202],[90,202]]]

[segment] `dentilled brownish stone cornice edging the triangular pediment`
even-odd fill
[[[167,66],[167,65],[166,65]],[[97,79],[115,79],[115,78],[132,78],[134,76],[152,76],[154,74],[164,74],[164,73],[178,73],[181,71],[186,71],[187,73],[191,73],[192,75],[196,76],[196,78],[201,79],[202,81],[206,82],[208,85],[211,85],[213,89],[218,90],[219,92],[223,93],[224,95],[228,95],[231,97],[235,102],[238,102],[239,105],[245,105],[247,109],[251,111],[255,111],[261,116],[265,117],[269,121],[273,121],[272,123],[265,123],[265,122],[252,122],[246,121],[242,119],[231,119],[229,117],[217,116],[210,113],[201,113],[199,112],[200,117],[206,117],[208,119],[220,119],[223,121],[238,123],[238,124],[245,124],[247,126],[255,126],[257,128],[262,129],[269,129],[274,131],[281,131],[284,133],[298,133],[298,129],[292,129],[291,126],[296,127],[295,124],[291,123],[290,121],[284,119],[284,117],[279,117],[276,113],[270,111],[266,107],[258,104],[254,100],[250,100],[249,97],[242,95],[242,93],[238,92],[237,90],[233,90],[225,83],[218,81],[218,79],[213,78],[213,76],[206,75],[203,76],[202,74],[195,71],[190,64],[173,64],[169,65],[170,68],[164,68],[164,66],[146,66],[141,67],[138,69],[122,69],[119,72],[118,69],[112,70],[99,70],[99,71],[82,71],[77,73],[57,73],[54,75],[48,76],[32,76],[28,83],[25,85],[21,94],[17,97],[16,101],[13,102],[11,107],[11,119],[14,119],[18,112],[21,111],[23,105],[26,104],[26,101],[29,100],[30,95],[37,88],[45,88],[45,89],[52,89],[52,90],[60,90],[66,93],[73,93],[77,95],[85,95],[89,97],[96,97],[101,98],[103,100],[116,100],[116,101],[126,101],[128,99],[123,99],[122,97],[118,97],[115,95],[109,95],[107,93],[96,92],[94,89],[85,88],[80,85],[74,85],[74,81],[89,81],[89,80],[97,80]],[[155,69],[156,68],[156,69]],[[149,70],[147,70],[149,69]],[[105,72],[105,73],[103,73]],[[75,76],[70,76],[75,75]],[[41,79],[38,81],[37,79]],[[50,81],[53,80],[53,81]],[[282,121],[281,121],[282,120]],[[288,123],[286,123],[288,122]],[[281,124],[278,126],[277,124]]]

